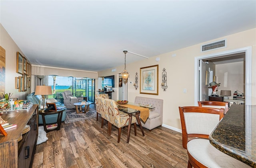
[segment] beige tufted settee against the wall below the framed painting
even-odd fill
[[[141,122],[142,127],[152,129],[163,124],[163,102],[162,99],[154,99],[154,98],[145,98],[145,97],[135,97],[135,104],[142,104],[155,107],[149,111],[149,117],[145,123]],[[138,123],[137,123],[138,124]]]

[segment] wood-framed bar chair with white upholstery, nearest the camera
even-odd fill
[[[187,106],[179,107],[179,111],[182,145],[188,152],[188,168],[249,167],[213,147],[208,140],[210,133],[224,116],[223,108]]]

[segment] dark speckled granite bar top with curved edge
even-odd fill
[[[218,150],[256,168],[256,105],[231,105],[209,141]]]

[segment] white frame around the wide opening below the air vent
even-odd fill
[[[230,51],[224,51],[220,53],[214,53],[210,55],[203,55],[199,57],[195,57],[195,64],[194,64],[194,78],[195,78],[195,83],[194,83],[194,105],[198,105],[198,101],[201,101],[201,95],[199,94],[202,90],[199,90],[198,87],[199,83],[199,61],[202,59],[213,59],[216,57],[224,56],[224,55],[229,55],[229,54],[234,54],[234,53],[242,53],[245,52],[245,104],[246,105],[252,105],[252,46],[249,47],[244,47],[240,49],[234,49]],[[200,79],[202,80],[202,79]],[[200,91],[200,92],[199,92]]]

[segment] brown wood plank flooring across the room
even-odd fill
[[[95,108],[94,105],[90,105]],[[107,124],[100,127],[101,118],[65,124],[60,130],[47,133],[48,141],[36,146],[32,168],[185,168],[188,163],[182,147],[182,135],[164,127],[145,136],[132,126],[130,142],[126,143],[127,128],[122,129],[117,143],[118,129]]]

